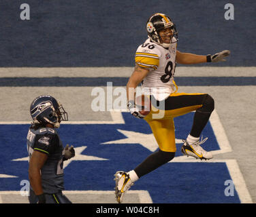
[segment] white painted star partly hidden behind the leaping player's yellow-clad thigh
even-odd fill
[[[104,142],[101,144],[141,144],[144,148],[152,152],[158,149],[157,141],[153,134],[142,134],[127,130],[118,130],[118,132],[121,132],[121,134],[125,135],[127,138]],[[180,139],[175,139],[175,142],[183,143]]]

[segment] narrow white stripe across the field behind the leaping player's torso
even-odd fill
[[[134,67],[0,67],[0,77],[130,77],[133,69]],[[175,75],[177,77],[206,77],[206,75],[255,77],[255,71],[255,66],[179,66]]]

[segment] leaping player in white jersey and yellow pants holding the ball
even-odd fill
[[[224,58],[230,54],[228,50],[207,56],[179,52],[176,26],[165,14],[157,13],[150,16],[146,22],[146,31],[148,39],[135,53],[136,65],[127,83],[127,99],[131,114],[144,118],[150,125],[159,151],[149,155],[134,170],[116,172],[114,176],[118,203],[123,201],[124,193],[136,180],[174,158],[174,117],[195,111],[191,132],[184,140],[181,151],[184,155],[197,159],[212,158],[212,153],[200,146],[207,138],[199,140],[199,136],[214,110],[214,100],[209,94],[178,93],[174,81],[175,67],[176,62],[198,64],[225,61]],[[150,113],[146,116],[140,113],[135,104],[135,88],[141,82],[144,96],[147,96],[151,103]]]

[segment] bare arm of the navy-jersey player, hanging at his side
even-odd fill
[[[33,151],[29,160],[29,181],[35,195],[42,195],[41,169],[46,162],[48,155],[39,151]]]

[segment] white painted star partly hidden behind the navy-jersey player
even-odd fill
[[[90,155],[82,155],[81,153],[87,148],[87,146],[80,146],[76,147],[75,153],[76,156],[72,157],[71,159],[64,161],[63,168],[67,167],[71,161],[107,161],[108,159],[101,158],[101,157],[95,157]],[[29,161],[29,157],[22,157],[18,159],[13,159],[12,161]]]

